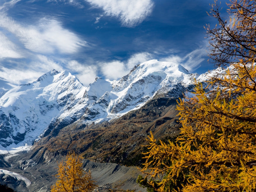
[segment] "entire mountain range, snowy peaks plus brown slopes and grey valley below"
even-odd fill
[[[135,166],[143,163],[147,135],[175,138],[180,127],[176,100],[193,90],[194,79],[205,81],[223,71],[198,76],[178,64],[150,60],[118,81],[96,78],[84,87],[67,71],[52,70],[5,91],[0,96],[0,184],[22,192],[50,191],[54,168],[75,151],[100,192],[145,192],[136,183],[141,173]],[[24,145],[30,150],[20,151]],[[1,151],[18,146],[18,153]]]

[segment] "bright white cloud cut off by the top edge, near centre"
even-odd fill
[[[123,26],[133,27],[140,24],[151,14],[152,0],[86,0],[102,8],[106,15],[118,17]]]

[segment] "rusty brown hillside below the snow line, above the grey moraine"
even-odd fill
[[[155,97],[144,107],[131,111],[111,122],[83,124],[79,120],[60,130],[56,137],[49,135],[34,145],[66,154],[76,151],[96,162],[140,165],[141,152],[152,131],[156,139],[166,139],[179,133],[176,100]]]

